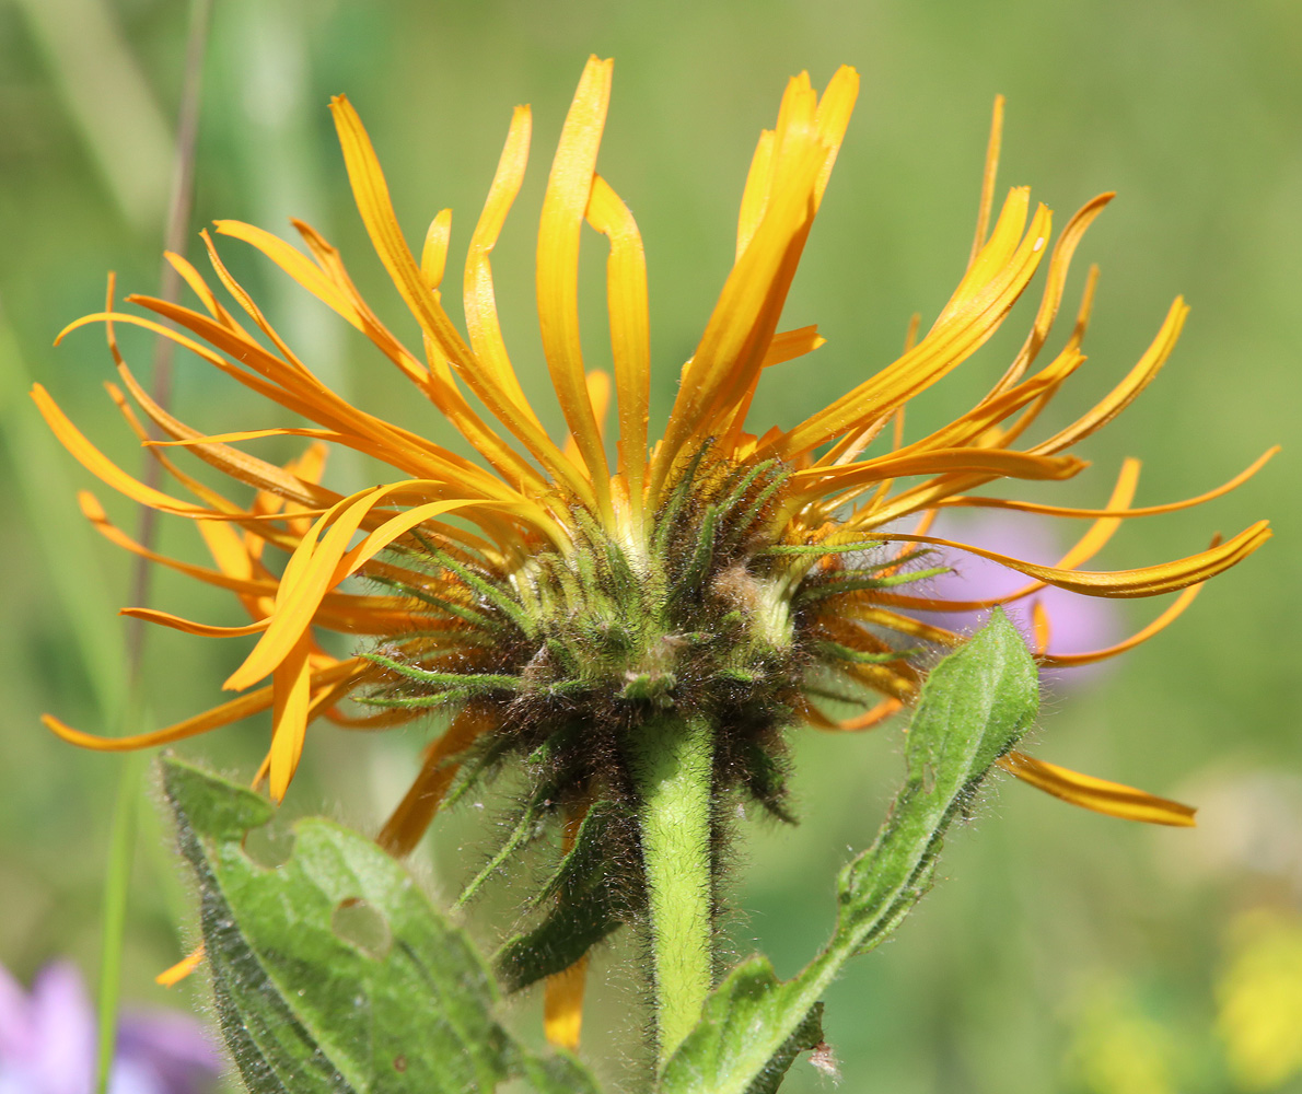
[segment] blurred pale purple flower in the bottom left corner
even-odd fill
[[[94,1094],[95,1013],[69,961],[46,965],[25,992],[0,965],[0,1094]],[[109,1094],[198,1094],[223,1061],[194,1018],[122,1016]]]

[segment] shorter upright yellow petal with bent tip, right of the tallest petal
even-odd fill
[[[629,207],[598,175],[587,202],[587,223],[611,244],[605,300],[611,316],[611,358],[620,417],[620,464],[629,482],[634,525],[642,525],[651,399],[651,318],[642,234]]]

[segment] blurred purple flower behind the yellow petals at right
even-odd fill
[[[934,533],[947,539],[962,539],[974,547],[984,547],[987,551],[1044,565],[1056,565],[1065,554],[1062,544],[1056,542],[1043,521],[1022,513],[975,513],[962,521],[961,531],[957,533],[954,525],[958,525],[957,520],[945,527],[941,518]],[[978,555],[948,550],[940,554],[939,561],[928,559],[926,565],[947,565],[952,570],[928,582],[928,595],[954,600],[987,600],[993,596],[1006,596],[1031,583],[1031,578],[1026,574]],[[1051,585],[1031,596],[1004,606],[1009,620],[1032,647],[1035,626],[1031,621],[1031,606],[1036,600],[1049,617],[1051,652],[1083,654],[1111,646],[1122,637],[1120,613],[1113,602],[1101,596],[1082,596],[1079,593],[1068,593]],[[915,612],[915,615],[926,623],[969,634],[986,623],[990,612]],[[1081,668],[1046,669],[1042,676],[1055,684],[1072,685],[1101,671],[1107,664],[1111,662]]]

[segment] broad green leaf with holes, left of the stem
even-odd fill
[[[590,1091],[577,1061],[536,1059],[495,1017],[483,957],[371,840],[320,818],[293,852],[255,861],[273,818],[253,793],[163,761],[181,850],[199,883],[217,1016],[255,1094],[470,1094],[516,1076]]]

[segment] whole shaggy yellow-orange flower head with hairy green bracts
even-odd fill
[[[596,172],[612,65],[589,61],[561,133],[538,231],[542,343],[569,436],[557,442],[526,401],[503,343],[491,254],[519,190],[530,112],[516,109],[505,148],[475,224],[465,263],[465,331],[448,316],[441,284],[450,212],[430,225],[419,258],[398,231],[388,188],[352,104],[332,103],[358,211],[376,253],[419,324],[422,345],[401,343],[358,294],[339,253],[306,224],[296,246],[247,224],[216,232],[259,250],[350,323],[474,447],[479,461],[353,406],[312,374],[229,275],[203,234],[223,303],[180,255],[168,255],[198,297],[189,309],[148,297],[130,302],[158,319],[113,310],[69,330],[104,323],[121,389],[111,392],[147,439],[132,402],[171,440],[151,453],[191,495],[155,490],[107,460],[46,391],[34,397],[68,449],[100,479],[160,512],[195,522],[214,565],[165,557],[129,539],[90,495],[82,509],[109,539],[160,565],[228,589],[249,613],[243,626],[210,626],[163,611],[129,608],[191,634],[249,636],[251,651],[225,686],[232,701],[176,725],[102,738],[53,718],[61,737],[95,749],[135,749],[203,733],[272,711],[272,740],[259,772],[281,798],[307,725],[398,725],[430,711],[450,722],[428,748],[411,792],[381,834],[409,850],[443,796],[469,771],[508,751],[530,758],[570,822],[598,789],[620,792],[618,737],[667,707],[713,719],[717,778],[781,810],[780,735],[792,722],[824,729],[876,724],[917,694],[937,649],[958,638],[911,611],[980,610],[993,602],[940,602],[910,591],[934,573],[930,546],[962,547],[926,534],[945,507],[984,505],[1086,518],[1086,534],[1056,567],[962,547],[1026,574],[1000,602],[1046,585],[1083,595],[1148,596],[1185,590],[1155,624],[1112,650],[1053,656],[1039,617],[1040,658],[1083,663],[1128,649],[1161,629],[1200,582],[1234,565],[1269,535],[1255,524],[1210,550],[1160,565],[1111,573],[1081,569],[1124,518],[1187,501],[1133,508],[1138,464],[1128,461],[1100,509],[1035,505],[974,491],[1001,479],[1065,479],[1085,462],[1066,455],[1143,391],[1165,362],[1185,318],[1176,301],[1152,345],[1096,406],[1053,435],[1029,440],[1040,412],[1083,363],[1094,288],[1088,279],[1062,349],[1039,357],[1062,300],[1081,236],[1111,195],[1087,203],[1056,242],[1051,214],[1013,189],[990,224],[999,141],[991,141],[971,259],[949,302],[906,352],[790,430],[750,432],[747,410],[775,369],[822,344],[816,330],[779,330],[783,305],[832,173],[854,107],[858,77],[842,68],[819,95],[792,79],[777,122],[760,134],[746,177],[736,262],[654,443],[648,439],[650,320],[642,238],[628,207]],[[589,372],[578,315],[583,223],[605,237],[613,376]],[[910,399],[962,365],[990,339],[1036,271],[1047,276],[1021,350],[990,393],[943,428],[902,443]],[[159,322],[171,320],[180,331]],[[171,337],[310,426],[203,435],[159,406],[137,383],[113,336],[132,323]],[[66,333],[66,332],[65,332]],[[777,367],[784,366],[784,367]],[[130,400],[130,401],[129,401]],[[604,421],[613,400],[617,439]],[[268,435],[310,438],[277,466],[236,445]],[[893,439],[893,443],[892,443]],[[341,496],[323,484],[329,445],[363,452],[395,469],[392,482]],[[173,462],[174,448],[220,469],[242,500],[211,490]],[[1267,453],[1267,458],[1271,453]],[[897,529],[907,517],[922,525]],[[902,544],[902,546],[894,546]],[[283,568],[277,556],[285,559]],[[277,577],[279,572],[279,577]],[[371,582],[367,590],[353,578]],[[924,586],[921,586],[924,589]],[[318,630],[363,636],[361,652],[337,659]],[[858,718],[829,716],[828,698],[863,702]],[[358,702],[361,706],[358,706]],[[1013,753],[1019,778],[1081,805],[1137,819],[1189,823],[1190,810],[1126,787],[1075,775]],[[612,791],[613,787],[613,791]]]

